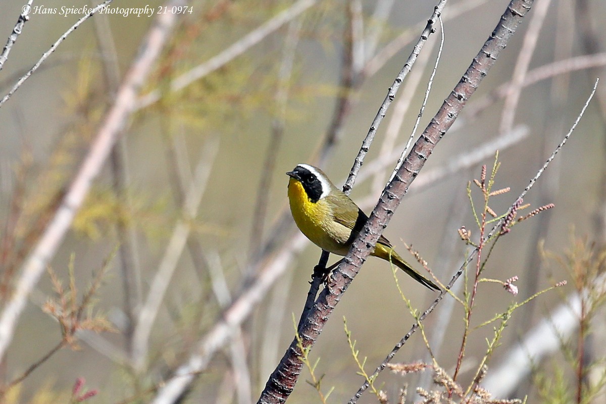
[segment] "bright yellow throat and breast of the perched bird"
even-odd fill
[[[348,234],[337,234],[344,228],[333,223],[333,211],[326,200],[311,202],[301,182],[291,178],[288,201],[297,227],[311,242],[330,253],[347,254],[348,248],[338,240],[347,240]]]

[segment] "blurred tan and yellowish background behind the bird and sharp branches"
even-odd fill
[[[84,16],[66,16],[67,9],[95,5],[70,1],[33,4],[38,8],[30,12],[0,73],[2,96]],[[146,1],[116,0],[110,7],[147,6],[152,16],[98,14],[85,21],[1,105],[2,303],[10,299],[22,264],[80,170],[147,31],[158,12],[164,12],[162,2]],[[81,302],[109,260],[82,314],[98,322],[78,331],[77,343],[41,361],[64,338],[57,316],[48,313],[48,299],[58,297],[57,286],[45,272],[2,362],[4,402],[70,402],[78,377],[85,378],[87,389],[98,390],[87,399],[90,402],[151,402],[161,381],[197,352],[231,303],[270,264],[280,264],[258,305],[246,302],[250,313],[244,322],[208,354],[210,362],[182,397],[182,402],[255,402],[293,339],[293,317],[298,320],[321,253],[301,242],[288,211],[284,173],[307,162],[319,165],[339,187],[344,183],[435,3],[218,0],[193,1],[175,9],[175,27],[145,78],[121,140],[48,262],[65,290],[73,283]],[[24,4],[0,4],[0,35],[8,38]],[[417,136],[507,4],[448,2],[442,15],[441,60]],[[483,164],[490,172],[496,150],[501,166],[494,190],[511,191],[491,197],[490,207],[497,214],[507,212],[562,141],[595,79],[603,76],[604,15],[606,3],[599,0],[534,2],[385,230],[405,259],[415,262],[405,247],[411,245],[444,283],[461,267],[470,247],[458,229],[465,226],[476,242],[479,234],[467,185],[479,179]],[[281,22],[270,27],[276,16],[282,16]],[[257,33],[256,39],[250,33]],[[402,84],[365,157],[351,197],[367,213],[413,130],[440,41],[438,30]],[[499,283],[480,283],[471,328],[556,282],[568,284],[514,311],[488,363],[488,374],[506,362],[508,349],[533,325],[591,282],[581,276],[583,283],[579,272],[571,273],[576,255],[566,254],[576,248],[577,256],[591,256],[587,251],[593,248],[595,258],[606,242],[604,96],[601,82],[570,140],[524,199],[531,204],[526,212],[549,203],[555,207],[516,225],[490,252],[482,276],[501,281],[518,276],[519,294],[512,296]],[[473,184],[471,194],[476,208],[481,207],[482,195]],[[181,237],[181,244],[175,237]],[[544,259],[539,245],[561,259]],[[579,253],[579,245],[586,250]],[[293,252],[289,260],[282,259],[284,251]],[[590,258],[582,268],[593,265]],[[330,262],[335,260],[331,257]],[[582,273],[590,273],[582,268]],[[424,311],[435,294],[397,275],[405,296]],[[455,288],[460,296],[463,281]],[[162,286],[159,294],[154,282]],[[154,298],[160,305],[141,345],[141,311]],[[593,333],[589,336],[585,329],[587,334],[580,334],[587,342],[584,363],[604,359],[598,349],[606,335],[598,302],[591,311],[591,319],[597,320],[584,323]],[[462,306],[447,296],[425,322],[427,338],[436,344],[436,360],[450,373],[461,349],[464,315]],[[316,377],[324,376],[321,391],[333,388],[327,402],[344,402],[364,382],[356,374],[344,317],[361,359],[367,357],[368,373],[414,322],[389,265],[369,259],[310,354],[312,363],[318,360]],[[582,377],[576,373],[574,358],[581,348],[579,334],[571,332],[573,339],[562,337],[562,349],[528,369],[531,377],[502,394],[551,402],[553,389],[545,386],[554,380],[570,391],[578,380],[588,391],[599,387],[597,382],[592,385],[588,370]],[[473,379],[487,349],[485,339],[493,334],[493,325],[469,334],[458,376],[462,385]],[[428,360],[420,333],[395,358],[405,363]],[[39,361],[22,383],[12,384]],[[562,375],[554,374],[554,363],[565,369]],[[306,369],[301,379],[290,401],[322,402],[316,389],[305,383],[311,380]],[[600,380],[603,385],[603,377]],[[416,386],[431,389],[430,380],[419,380],[419,374],[402,377],[387,371],[375,384],[390,402],[397,402],[405,384],[409,400]],[[599,401],[604,397],[594,400],[604,402]],[[376,402],[376,397],[366,393],[360,402]]]

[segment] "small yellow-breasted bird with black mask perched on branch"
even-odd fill
[[[347,255],[368,216],[345,193],[330,182],[318,167],[299,164],[288,171],[290,211],[299,230],[329,253]],[[370,255],[393,262],[417,282],[433,290],[438,285],[415,271],[381,236]]]

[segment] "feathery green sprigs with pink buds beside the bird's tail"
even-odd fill
[[[404,300],[404,302],[408,306],[408,310],[410,311],[411,315],[416,320],[416,325],[418,326],[419,330],[421,331],[423,340],[425,342],[425,346],[426,346],[428,352],[430,353],[432,363],[431,363],[431,365],[425,364],[425,363],[394,364],[394,365],[389,365],[389,367],[391,368],[392,371],[395,371],[396,373],[399,373],[399,374],[418,373],[419,371],[424,371],[425,369],[428,369],[428,368],[433,369],[434,383],[436,385],[436,388],[432,389],[431,391],[425,391],[424,389],[417,389],[418,394],[422,397],[422,403],[425,403],[425,404],[455,403],[455,402],[478,403],[478,404],[481,404],[481,403],[484,403],[484,404],[488,404],[488,403],[491,403],[491,404],[522,403],[522,400],[494,399],[491,396],[490,392],[486,391],[485,389],[483,389],[481,387],[481,381],[484,379],[484,377],[487,374],[488,362],[489,362],[490,358],[493,356],[496,348],[499,347],[503,334],[504,334],[504,331],[505,331],[505,328],[507,327],[508,322],[510,321],[511,317],[513,316],[514,311],[522,308],[524,305],[529,303],[531,300],[534,300],[537,297],[541,296],[543,293],[546,293],[547,291],[550,291],[551,289],[564,284],[564,283],[557,283],[554,286],[545,288],[544,290],[533,294],[533,296],[528,297],[528,299],[525,299],[522,302],[512,302],[508,305],[507,309],[505,311],[503,311],[502,313],[495,314],[493,317],[491,317],[488,320],[485,320],[484,322],[480,323],[478,326],[474,326],[474,327],[471,326],[472,316],[473,316],[474,310],[476,309],[476,297],[482,291],[481,288],[479,287],[479,286],[481,286],[482,283],[498,283],[498,284],[502,285],[506,291],[513,294],[514,296],[518,293],[517,286],[515,286],[513,284],[514,282],[516,282],[516,280],[518,280],[517,276],[511,277],[510,279],[507,279],[507,280],[487,279],[487,278],[480,277],[482,271],[487,266],[487,262],[490,259],[490,253],[491,253],[491,251],[493,251],[496,241],[501,236],[504,236],[504,234],[507,234],[510,231],[511,227],[513,227],[513,225],[516,222],[525,220],[528,217],[534,216],[534,214],[538,214],[542,210],[545,210],[545,209],[553,206],[553,205],[550,205],[547,207],[547,205],[546,205],[546,207],[542,207],[539,210],[535,210],[535,211],[531,212],[530,214],[528,214],[527,216],[522,217],[521,219],[518,219],[517,221],[514,219],[516,219],[518,210],[521,210],[522,208],[524,208],[521,205],[521,201],[516,202],[516,204],[514,204],[510,210],[508,210],[507,212],[505,212],[503,214],[495,213],[490,208],[490,205],[489,205],[491,197],[499,196],[499,195],[505,194],[509,191],[508,187],[501,188],[499,190],[493,190],[493,186],[494,186],[494,183],[496,180],[496,174],[498,173],[500,165],[501,164],[498,161],[498,153],[497,153],[495,156],[494,164],[490,171],[490,174],[487,175],[486,166],[483,166],[480,179],[473,180],[473,184],[475,184],[481,190],[481,194],[482,194],[482,204],[480,205],[481,209],[478,209],[478,205],[476,203],[474,203],[474,198],[472,197],[472,191],[471,191],[471,182],[469,182],[468,186],[467,186],[467,195],[470,200],[471,212],[473,213],[473,217],[476,222],[476,226],[478,227],[479,236],[478,236],[477,240],[473,240],[471,238],[472,233],[470,230],[467,230],[465,227],[461,227],[459,229],[459,235],[465,241],[465,243],[467,243],[467,245],[471,245],[471,246],[475,247],[477,250],[477,256],[476,256],[476,259],[474,260],[475,271],[468,273],[469,268],[467,267],[467,265],[465,265],[464,273],[463,273],[464,289],[462,291],[462,296],[456,296],[456,294],[454,294],[453,291],[447,290],[447,292],[450,294],[450,296],[462,306],[463,312],[464,312],[464,316],[462,319],[463,323],[464,323],[464,331],[462,334],[461,348],[460,348],[459,354],[458,354],[457,365],[456,365],[456,368],[454,369],[454,373],[452,376],[450,376],[450,374],[447,373],[447,371],[445,371],[441,365],[439,365],[438,361],[436,360],[436,357],[433,355],[430,343],[429,343],[427,335],[425,333],[425,327],[423,325],[423,322],[421,321],[420,313],[418,310],[416,310],[413,307],[410,300],[404,296],[404,293],[402,293],[402,290],[399,286],[398,277],[396,277],[396,273],[394,270],[394,279],[395,279],[398,291],[402,297],[402,300]],[[490,231],[489,226],[494,226],[494,225],[499,225],[501,227],[500,230],[494,231],[493,233],[489,233],[489,231]],[[424,267],[426,269],[428,269],[427,264],[425,263],[424,260],[422,260],[419,257],[419,254],[415,253],[415,255],[418,258],[418,261],[424,263]],[[467,260],[465,262],[467,263]],[[430,273],[431,273],[431,271],[430,271]],[[465,357],[468,337],[470,336],[470,333],[472,331],[484,328],[484,326],[487,326],[487,325],[490,325],[493,323],[497,323],[497,324],[493,326],[492,336],[489,338],[487,337],[487,339],[486,339],[487,348],[485,350],[485,353],[481,357],[481,359],[477,362],[477,364],[473,365],[475,368],[473,378],[471,379],[470,383],[466,387],[464,387],[458,382],[457,379],[458,379],[459,369],[461,368],[462,362]],[[449,340],[453,340],[454,338],[456,338],[456,337],[453,335],[448,336]],[[350,343],[350,346],[351,345],[352,344]],[[353,348],[352,348],[352,351],[353,351]],[[357,359],[357,353],[355,351],[353,351],[353,352],[355,353],[355,358]],[[361,368],[360,365],[359,365],[359,368]],[[374,381],[373,376],[365,376],[365,377],[367,378],[369,385],[371,385],[371,382]],[[524,400],[524,402],[525,402],[525,400]]]

